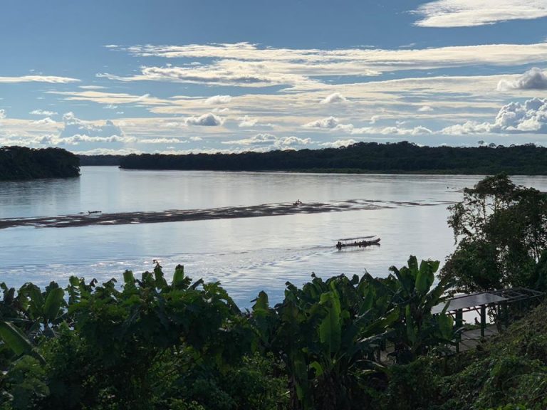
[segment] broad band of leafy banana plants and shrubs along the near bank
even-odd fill
[[[431,314],[446,283],[438,263],[395,275],[287,284],[240,312],[219,283],[161,266],[140,280],[71,278],[67,288],[2,285],[1,409],[354,409],[383,383],[377,349],[397,341],[407,362],[452,339]]]

